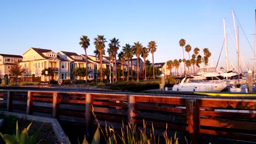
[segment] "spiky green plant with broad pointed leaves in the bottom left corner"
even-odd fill
[[[3,140],[5,143],[10,143],[10,144],[18,144],[18,143],[36,143],[37,137],[40,133],[40,130],[42,126],[39,128],[39,130],[36,131],[32,136],[29,136],[28,133],[30,131],[30,127],[32,125],[32,122],[27,126],[27,128],[24,128],[21,133],[19,132],[19,127],[18,127],[18,121],[16,121],[16,135],[8,135],[8,134],[2,134],[0,132],[0,135],[2,136]],[[40,141],[39,141],[40,142]],[[37,143],[39,143],[37,142]]]

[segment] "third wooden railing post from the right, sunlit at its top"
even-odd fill
[[[90,137],[90,128],[91,128],[91,115],[92,115],[92,95],[86,93],[85,97],[85,133],[88,137]]]

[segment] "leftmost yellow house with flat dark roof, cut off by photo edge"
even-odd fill
[[[14,65],[15,62],[22,62],[22,56],[0,54],[0,78],[10,74],[11,65]]]

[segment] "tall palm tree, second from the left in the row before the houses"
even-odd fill
[[[102,51],[105,48],[105,43],[107,40],[104,38],[104,35],[98,35],[97,38],[94,38],[94,45],[96,47],[96,50],[100,52],[100,62],[101,62],[101,82],[103,82],[103,75],[102,75]]]

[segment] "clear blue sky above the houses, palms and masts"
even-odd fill
[[[79,38],[87,35],[91,39],[88,55],[94,55],[93,39],[104,35],[108,41],[118,38],[121,46],[137,41],[147,46],[154,40],[158,45],[155,62],[166,62],[182,58],[178,41],[183,38],[193,49],[207,47],[212,52],[210,64],[216,65],[224,40],[225,18],[229,59],[236,65],[231,9],[254,49],[255,8],[256,3],[251,0],[1,1],[0,53],[22,55],[30,47],[40,47],[82,54]],[[252,65],[253,51],[241,28],[240,49],[245,63]],[[224,67],[224,52],[223,48],[218,67]],[[148,59],[152,62],[151,55]]]

